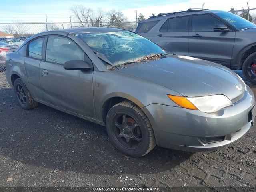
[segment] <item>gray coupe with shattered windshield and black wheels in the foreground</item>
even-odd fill
[[[232,70],[120,29],[36,34],[7,55],[6,77],[20,107],[40,102],[106,126],[116,148],[135,157],[156,145],[224,147],[255,117],[254,94]]]

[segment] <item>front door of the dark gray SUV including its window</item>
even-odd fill
[[[210,14],[194,15],[188,33],[188,55],[230,66],[235,32],[214,31],[216,25],[225,25]]]

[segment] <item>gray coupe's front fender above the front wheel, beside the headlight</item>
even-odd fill
[[[100,121],[103,121],[104,104],[110,98],[125,98],[144,108],[153,103],[177,106],[167,97],[167,94],[182,96],[164,86],[117,71],[94,71],[93,91],[95,113]]]

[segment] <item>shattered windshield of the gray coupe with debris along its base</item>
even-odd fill
[[[96,53],[113,66],[126,62],[159,59],[169,54],[150,40],[129,31],[76,34]],[[152,57],[150,57],[152,56]]]

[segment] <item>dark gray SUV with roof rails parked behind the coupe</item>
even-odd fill
[[[170,52],[242,69],[256,84],[256,25],[240,16],[193,9],[160,13],[141,21],[136,33]]]

